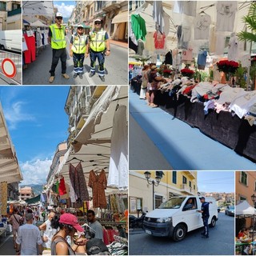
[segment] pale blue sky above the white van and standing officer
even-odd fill
[[[199,192],[234,192],[234,171],[198,171]]]

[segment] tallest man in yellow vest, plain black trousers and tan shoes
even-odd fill
[[[55,69],[58,65],[58,59],[62,62],[62,77],[69,79],[70,77],[66,74],[66,29],[62,25],[62,14],[57,13],[55,15],[55,23],[50,25],[48,42],[53,49],[53,59],[50,68],[50,79],[49,82],[54,82]]]

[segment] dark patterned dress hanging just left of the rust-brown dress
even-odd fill
[[[81,162],[77,166],[73,166],[70,163],[70,182],[74,188],[75,194],[78,196],[78,200],[89,201],[89,193],[86,186],[86,178],[82,171]]]

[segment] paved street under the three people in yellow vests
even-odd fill
[[[70,35],[69,35],[70,36]],[[68,40],[70,41],[70,39]],[[112,41],[113,42],[113,41]],[[62,78],[61,62],[58,62],[58,66],[55,72],[55,79],[52,85],[127,85],[128,84],[128,49],[127,44],[118,44],[118,42],[111,43],[111,54],[106,57],[106,82],[98,77],[98,61],[96,63],[96,74],[93,78],[89,78],[90,72],[90,58],[86,58],[84,61],[85,74],[83,78],[73,78],[74,66],[73,58],[68,56],[66,66],[66,73],[70,76],[70,79]],[[66,46],[66,49],[70,49],[70,45]],[[68,51],[69,52],[69,51]],[[50,78],[50,65],[52,59],[52,50],[50,46],[46,46],[36,58],[35,62],[28,65],[23,70],[23,85],[48,85]]]

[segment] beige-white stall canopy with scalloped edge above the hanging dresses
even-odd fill
[[[102,96],[94,103],[86,123],[74,139],[74,150],[90,143],[110,142],[114,112],[118,105],[128,105],[127,86],[107,86]]]

